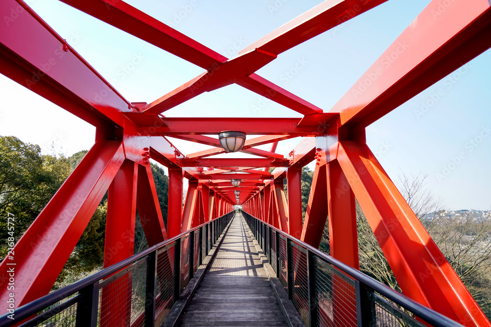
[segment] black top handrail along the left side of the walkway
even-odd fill
[[[101,270],[100,272],[97,272],[91,276],[85,277],[79,281],[74,282],[73,284],[70,284],[70,285],[65,286],[61,289],[58,289],[58,290],[54,291],[53,293],[47,294],[47,295],[45,295],[45,296],[43,296],[37,300],[26,303],[26,304],[20,306],[19,308],[15,309],[15,316],[14,316],[15,320],[12,320],[12,319],[7,317],[9,315],[9,313],[6,313],[6,314],[0,316],[0,327],[12,326],[12,325],[18,324],[19,322],[25,320],[26,318],[31,317],[31,316],[35,315],[36,313],[40,312],[41,310],[46,309],[50,305],[53,305],[56,302],[59,302],[60,300],[65,299],[65,298],[69,297],[70,295],[72,295],[76,292],[80,292],[80,291],[90,287],[91,285],[93,285],[95,283],[98,283],[99,280],[104,279],[105,277],[108,277],[108,276],[118,272],[119,270],[127,267],[128,265],[131,265],[132,263],[134,263],[138,259],[142,259],[145,256],[152,254],[153,252],[157,252],[157,251],[163,249],[164,247],[166,247],[167,245],[172,244],[172,243],[180,240],[182,237],[184,237],[188,234],[191,235],[191,233],[196,231],[196,230],[198,230],[198,231],[201,230],[201,228],[203,226],[206,226],[206,225],[214,226],[214,225],[216,225],[217,221],[224,220],[224,218],[229,218],[229,219],[227,219],[227,223],[228,223],[228,221],[230,220],[230,215],[232,213],[234,213],[234,211],[226,213],[223,216],[220,216],[220,217],[218,217],[214,220],[211,220],[207,223],[204,223],[204,224],[201,224],[201,225],[196,226],[194,228],[191,228],[191,229],[189,229],[189,230],[187,230],[187,231],[185,231],[185,232],[183,232],[183,233],[181,233],[181,234],[179,234],[173,238],[165,240],[162,243],[154,245],[154,246],[152,246],[152,247],[150,247],[150,248],[148,248],[142,252],[139,252],[135,255],[132,255],[131,257],[128,257],[127,259],[124,259],[124,260],[122,260],[122,261],[120,261],[120,262],[118,262],[112,266],[109,266],[109,267]],[[226,224],[222,224],[221,226],[223,228],[225,228]],[[208,228],[206,230],[208,231]],[[222,230],[223,229],[220,229],[220,232]],[[207,241],[207,240],[203,240],[203,241]],[[201,248],[202,248],[201,244],[199,245],[199,247],[200,247],[200,255],[201,255]],[[209,249],[207,248],[206,251],[208,252]],[[154,264],[155,264],[155,262],[154,262]],[[191,266],[192,266],[192,264],[191,264]]]

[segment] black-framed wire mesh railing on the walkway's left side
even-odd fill
[[[27,303],[0,326],[160,326],[234,213]]]

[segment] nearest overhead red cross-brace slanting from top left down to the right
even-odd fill
[[[198,87],[198,90],[201,89],[201,91],[204,91],[204,88],[202,88],[201,84],[195,83],[204,76],[210,76],[213,73],[218,72],[218,70],[221,68],[221,64],[227,61],[226,57],[197,43],[189,37],[177,32],[173,28],[159,22],[151,16],[144,14],[143,12],[128,5],[123,1],[114,2],[103,0],[88,0],[83,1],[83,3],[75,0],[62,1],[209,71],[203,73],[203,75],[194,78],[187,84],[183,85],[183,87],[174,90],[163,100],[166,100],[171,96],[175,96],[178,93],[181,93],[181,97],[185,96],[190,98],[198,95],[201,92],[186,94],[187,91],[185,91],[185,89],[188,86],[192,87],[192,85],[194,84],[194,86]],[[244,54],[246,52],[250,53],[252,50],[254,49],[251,49],[249,51],[241,51],[241,54]],[[264,51],[262,50],[259,50],[258,52],[264,53]],[[246,88],[265,96],[271,96],[274,92],[273,96],[271,97],[273,101],[285,105],[288,108],[298,111],[304,115],[322,112],[320,108],[317,108],[307,101],[294,96],[293,94],[281,89],[280,87],[265,80],[264,78],[252,74],[255,70],[258,69],[258,67],[256,67],[255,70],[252,69],[252,71],[250,71],[251,69],[249,68],[250,73],[245,73],[243,67],[244,65],[240,64],[237,66],[238,67],[234,69],[230,73],[230,75],[234,75],[234,77],[237,77],[237,75],[242,75],[242,78],[239,81],[245,83],[243,86],[245,86]],[[249,75],[250,77],[247,77]],[[235,82],[235,80],[233,82]],[[175,105],[177,103],[178,102],[166,104],[168,106],[169,104]],[[150,107],[151,106],[148,106],[147,109]],[[167,108],[164,106],[164,109]],[[143,110],[145,110],[145,108]],[[154,111],[158,113],[159,110],[162,109],[157,109]]]

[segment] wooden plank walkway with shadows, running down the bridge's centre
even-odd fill
[[[246,228],[236,214],[179,326],[288,326]]]

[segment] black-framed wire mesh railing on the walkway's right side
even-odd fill
[[[462,326],[245,211],[241,213],[305,326]]]

